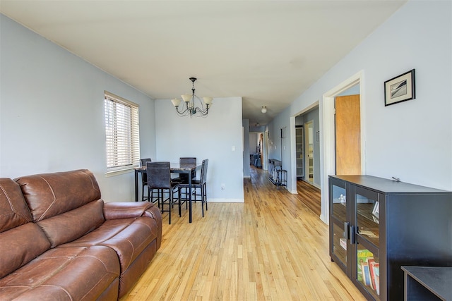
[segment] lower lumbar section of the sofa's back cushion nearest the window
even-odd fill
[[[52,247],[81,238],[100,226],[104,220],[102,199],[77,209],[38,221],[37,224],[49,238]]]

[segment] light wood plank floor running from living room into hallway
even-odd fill
[[[174,210],[162,247],[121,301],[364,300],[328,254],[328,226],[266,171],[244,180],[244,203]],[[173,217],[173,216],[172,216]]]

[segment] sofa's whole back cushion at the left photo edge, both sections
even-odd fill
[[[49,240],[31,221],[19,185],[0,178],[0,278],[49,250]]]

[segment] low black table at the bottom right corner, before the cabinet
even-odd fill
[[[402,266],[405,301],[452,300],[452,267]]]

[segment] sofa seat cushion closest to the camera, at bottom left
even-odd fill
[[[2,278],[0,300],[95,300],[118,277],[109,247],[55,248]]]

